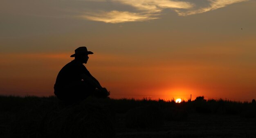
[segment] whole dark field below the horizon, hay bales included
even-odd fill
[[[256,103],[0,96],[0,138],[256,138]]]

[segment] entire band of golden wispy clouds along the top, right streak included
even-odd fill
[[[106,23],[141,22],[158,19],[164,9],[171,9],[180,16],[187,16],[216,10],[244,1],[248,0],[205,0],[203,2],[198,0],[98,0],[97,2],[112,2],[119,6],[130,8],[126,8],[126,11],[112,9],[106,12],[86,12],[79,18]],[[202,6],[202,4],[204,5]]]

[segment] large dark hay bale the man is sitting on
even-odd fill
[[[47,114],[41,134],[51,138],[114,138],[109,112],[88,101]]]

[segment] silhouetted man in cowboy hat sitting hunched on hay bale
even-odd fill
[[[54,94],[58,99],[66,102],[75,102],[83,100],[90,95],[107,97],[109,92],[102,88],[99,81],[95,79],[83,64],[86,64],[89,54],[85,46],[75,50],[75,57],[70,63],[66,64],[58,73],[54,85]]]

